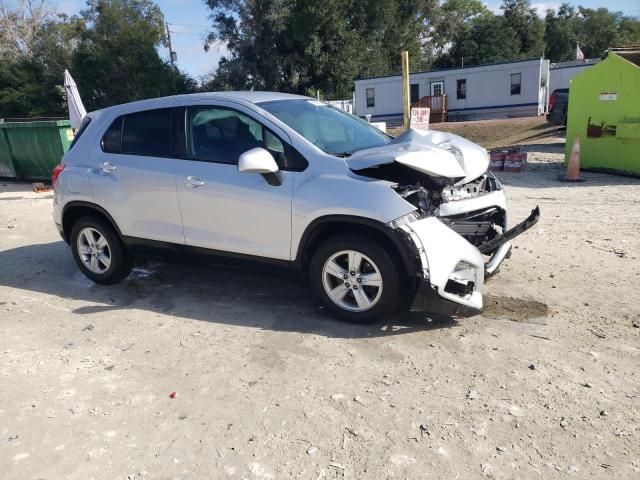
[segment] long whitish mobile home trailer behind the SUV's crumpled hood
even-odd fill
[[[446,95],[449,121],[542,115],[546,111],[549,61],[544,59],[412,73],[411,103]],[[373,120],[402,118],[402,76],[355,82],[355,114]]]

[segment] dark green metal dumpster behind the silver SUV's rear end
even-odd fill
[[[29,180],[50,179],[51,170],[73,140],[69,120],[4,122],[0,131],[11,152],[14,176]]]

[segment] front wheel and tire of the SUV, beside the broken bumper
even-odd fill
[[[401,282],[393,259],[366,237],[333,237],[324,242],[313,253],[309,276],[314,294],[348,322],[375,322],[395,313],[400,302]]]

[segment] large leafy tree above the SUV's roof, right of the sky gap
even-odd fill
[[[400,52],[425,65],[422,42],[436,0],[207,0],[230,54],[206,88],[256,88],[350,97],[353,79],[397,73]]]

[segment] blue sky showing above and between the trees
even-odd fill
[[[57,10],[68,15],[75,15],[85,6],[83,0],[50,0]],[[204,36],[210,30],[209,10],[202,0],[156,0],[162,9],[165,20],[169,22],[171,31],[171,43],[173,50],[178,54],[178,67],[192,77],[200,78],[213,70],[218,65],[220,57],[226,53],[224,44],[213,45],[209,52],[205,52]],[[484,2],[490,10],[501,13],[501,0]],[[549,8],[558,8],[562,1],[535,2],[532,6],[538,10],[541,16]],[[572,5],[581,5],[587,8],[606,7],[610,10],[622,11],[626,15],[640,16],[640,2],[638,0],[569,0]],[[159,50],[165,60],[169,58],[166,48]]]

